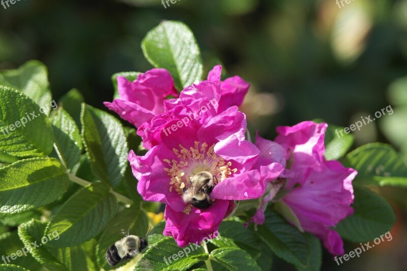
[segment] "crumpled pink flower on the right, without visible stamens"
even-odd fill
[[[286,177],[284,189],[291,191],[282,201],[292,208],[305,231],[321,238],[331,254],[340,255],[343,254],[343,242],[332,228],[353,214],[350,206],[354,199],[352,180],[357,171],[344,168],[337,161],[325,160],[326,129],[327,124],[313,122],[278,127],[275,142],[269,141],[268,144],[280,144],[288,163],[292,163],[284,173],[286,176],[283,176]],[[279,186],[273,187],[263,204],[271,201],[279,189]],[[257,224],[264,222],[262,208],[259,208],[252,221]]]

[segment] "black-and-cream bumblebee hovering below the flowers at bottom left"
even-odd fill
[[[148,246],[147,240],[135,235],[129,235],[114,243],[106,251],[106,260],[111,267],[126,259],[134,258]]]

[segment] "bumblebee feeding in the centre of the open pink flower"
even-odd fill
[[[184,202],[199,209],[210,207],[213,204],[210,195],[215,187],[214,178],[208,171],[200,171],[191,177],[189,186],[183,189]]]

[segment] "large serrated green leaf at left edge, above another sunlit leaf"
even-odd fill
[[[0,86],[0,151],[17,157],[46,156],[52,143],[51,124],[40,107],[24,94]]]

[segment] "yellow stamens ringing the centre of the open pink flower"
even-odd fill
[[[177,191],[179,195],[183,194],[183,188],[189,185],[190,179],[200,171],[209,171],[217,182],[222,182],[232,173],[236,173],[237,169],[230,169],[231,162],[226,162],[225,159],[218,156],[214,152],[214,146],[208,148],[206,142],[200,143],[195,141],[195,146],[189,149],[180,144],[180,148],[173,148],[172,151],[178,157],[178,161],[173,159],[163,159],[170,167],[164,170],[171,176],[169,183],[169,191]],[[190,210],[190,208],[189,208]]]

